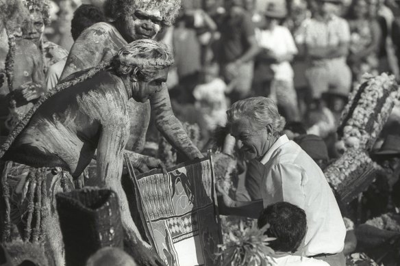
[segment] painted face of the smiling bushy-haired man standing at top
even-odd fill
[[[121,34],[127,42],[140,39],[153,39],[161,29],[162,16],[158,10],[135,10],[125,15],[121,22]]]

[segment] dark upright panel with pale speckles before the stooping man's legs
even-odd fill
[[[123,226],[114,191],[86,187],[55,198],[67,266],[85,265],[101,248],[123,248]]]

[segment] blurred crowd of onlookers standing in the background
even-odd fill
[[[107,20],[103,2],[50,1],[45,38],[69,51],[75,10],[92,4],[99,14],[88,16]],[[394,0],[184,0],[157,38],[175,53],[167,82],[175,114],[197,123],[202,139],[225,125],[229,105],[250,96],[273,98],[288,122],[326,139],[365,73],[400,79],[399,35]],[[48,87],[57,83],[51,75]],[[337,157],[334,148],[329,155]]]

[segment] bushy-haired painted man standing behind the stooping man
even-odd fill
[[[77,38],[60,80],[73,72],[97,66],[110,59],[127,42],[154,38],[162,27],[173,23],[179,8],[180,0],[107,1],[105,14],[114,18],[114,22],[92,25]],[[127,150],[142,152],[149,126],[150,109],[155,116],[158,130],[179,152],[188,159],[202,157],[201,152],[190,142],[182,129],[182,124],[175,118],[166,85],[145,103],[139,105],[129,101],[129,117],[132,120],[129,141],[125,147]],[[144,164],[142,171],[145,172],[154,166]]]

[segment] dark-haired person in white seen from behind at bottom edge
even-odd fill
[[[329,266],[325,261],[293,255],[307,231],[303,209],[289,202],[271,204],[258,217],[258,228],[263,228],[266,224],[269,224],[266,235],[276,238],[269,243],[275,250],[274,266]]]

